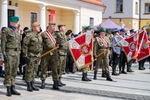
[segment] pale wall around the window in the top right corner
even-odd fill
[[[150,19],[150,14],[145,14],[145,3],[150,3],[150,0],[141,0],[141,18]]]

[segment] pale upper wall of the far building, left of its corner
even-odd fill
[[[116,0],[101,0],[106,6],[106,11],[103,14],[103,18],[132,18],[133,17],[133,0],[123,0],[123,12],[124,13],[115,13],[116,12]],[[135,7],[134,7],[135,8]]]

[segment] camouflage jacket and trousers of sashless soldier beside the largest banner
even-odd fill
[[[62,45],[62,47],[58,49],[58,55],[60,58],[58,74],[59,74],[59,78],[61,78],[62,73],[66,69],[66,55],[67,55],[68,45],[67,45],[67,37],[65,36],[65,34],[58,32],[56,33],[56,36],[57,36],[56,38],[57,44]]]

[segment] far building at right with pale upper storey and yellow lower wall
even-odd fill
[[[107,9],[103,21],[111,16],[118,23],[120,19],[126,28],[139,29],[150,21],[150,0],[101,0]]]

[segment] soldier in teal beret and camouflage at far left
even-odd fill
[[[19,18],[17,16],[10,17],[10,27],[4,30],[2,34],[2,53],[5,63],[5,79],[4,85],[7,87],[7,96],[20,95],[15,90],[15,78],[19,65],[19,56],[21,50],[20,33],[17,30]]]

